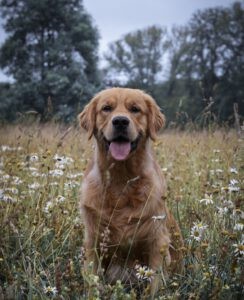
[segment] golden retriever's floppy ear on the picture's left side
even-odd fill
[[[94,97],[79,114],[78,118],[80,126],[88,132],[88,139],[90,140],[96,127],[96,105],[97,97]]]

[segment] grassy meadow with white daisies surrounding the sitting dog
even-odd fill
[[[244,294],[242,146],[224,130],[166,131],[154,143],[185,240],[185,274],[171,277],[157,299]],[[78,203],[91,152],[77,128],[0,129],[0,299],[87,299],[88,291],[90,299],[148,297],[147,289],[138,296],[84,272]]]

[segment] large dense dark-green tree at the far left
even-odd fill
[[[98,32],[82,0],[0,0],[0,8],[8,34],[0,67],[14,78],[16,109],[45,118],[49,101],[52,115],[70,119],[99,85]]]

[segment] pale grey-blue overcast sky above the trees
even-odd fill
[[[38,1],[38,0],[37,0]],[[124,34],[150,25],[184,25],[198,9],[228,6],[233,0],[83,0],[100,33],[100,54]],[[0,23],[0,44],[5,34]],[[0,81],[4,79],[0,72]]]

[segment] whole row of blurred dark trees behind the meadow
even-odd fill
[[[98,67],[99,32],[81,0],[0,0],[7,38],[0,67],[0,118],[27,113],[72,121],[109,86],[150,93],[169,126],[234,122],[244,112],[241,2],[195,12],[184,26],[150,26],[111,43]]]

